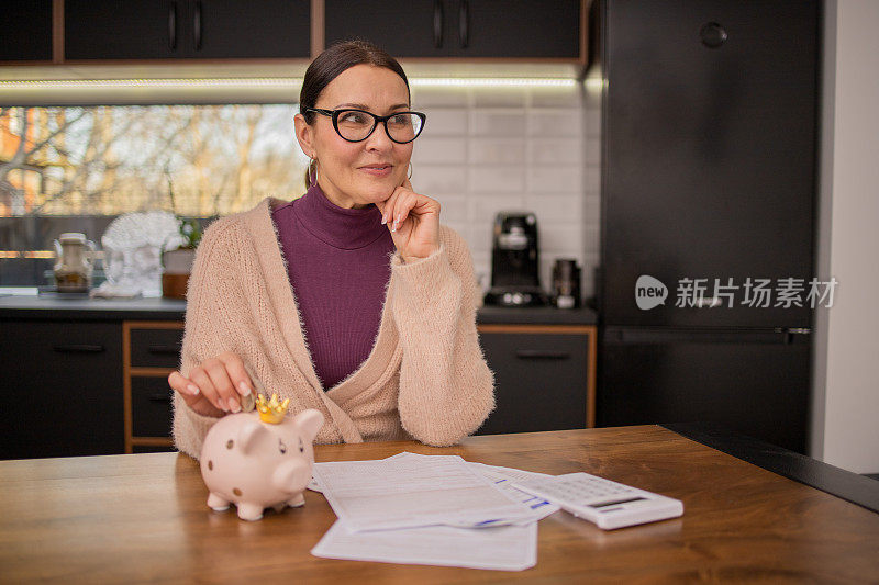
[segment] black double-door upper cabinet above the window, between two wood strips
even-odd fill
[[[65,0],[65,60],[308,58],[309,0]]]

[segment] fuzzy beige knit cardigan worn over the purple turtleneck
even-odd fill
[[[493,374],[476,331],[478,286],[467,245],[441,226],[439,250],[390,258],[381,323],[367,359],[332,389],[321,386],[302,333],[271,210],[218,220],[204,232],[187,292],[180,372],[224,351],[240,356],[289,414],[323,413],[320,443],[414,438],[447,446],[474,432],[494,407]],[[330,267],[332,269],[332,267]],[[174,440],[198,458],[216,418],[175,393]]]

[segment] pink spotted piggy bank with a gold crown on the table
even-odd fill
[[[229,509],[238,518],[258,520],[263,510],[302,506],[302,492],[314,465],[312,441],[323,426],[314,409],[286,417],[289,401],[267,403],[260,395],[256,410],[227,415],[208,432],[201,448],[201,476],[210,491],[208,506]]]

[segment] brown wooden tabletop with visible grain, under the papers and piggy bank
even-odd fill
[[[587,471],[680,498],[681,518],[616,531],[559,511],[523,572],[318,559],[321,494],[263,520],[215,513],[198,465],[151,453],[0,461],[0,582],[479,583],[879,581],[879,514],[663,427],[322,446],[319,461],[408,450],[545,473]]]

